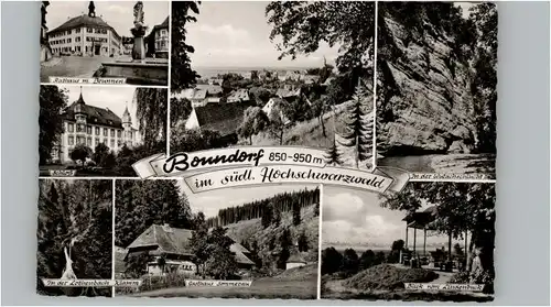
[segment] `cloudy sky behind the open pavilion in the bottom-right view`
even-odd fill
[[[390,248],[399,239],[406,240],[406,213],[380,207],[375,193],[324,186],[322,204],[322,240],[324,245],[367,245]],[[429,207],[424,205],[423,207]],[[424,208],[423,208],[424,209]],[[422,209],[421,209],[422,210]],[[426,246],[446,246],[446,235],[426,238]],[[417,246],[423,246],[423,231],[417,231]],[[409,231],[409,246],[413,246],[413,230]],[[453,241],[452,243],[455,244]],[[464,244],[464,242],[460,242]]]

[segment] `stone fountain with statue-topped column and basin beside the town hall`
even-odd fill
[[[115,63],[102,63],[101,77],[126,78],[129,84],[168,86],[169,59],[145,58],[144,36],[148,26],[143,23],[143,3],[134,6],[134,26],[130,29],[133,36],[132,59],[120,59]]]

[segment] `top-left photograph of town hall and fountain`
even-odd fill
[[[166,87],[169,13],[170,1],[42,1],[41,81]]]

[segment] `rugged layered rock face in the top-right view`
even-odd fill
[[[397,94],[377,109],[386,155],[469,153],[476,138],[469,68],[453,58],[452,39],[429,23],[421,35],[389,18],[381,22],[402,53],[386,67]]]

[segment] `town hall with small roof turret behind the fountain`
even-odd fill
[[[80,56],[121,55],[122,40],[101,17],[96,17],[94,1],[88,6],[88,14],[72,18],[47,33],[52,53]]]

